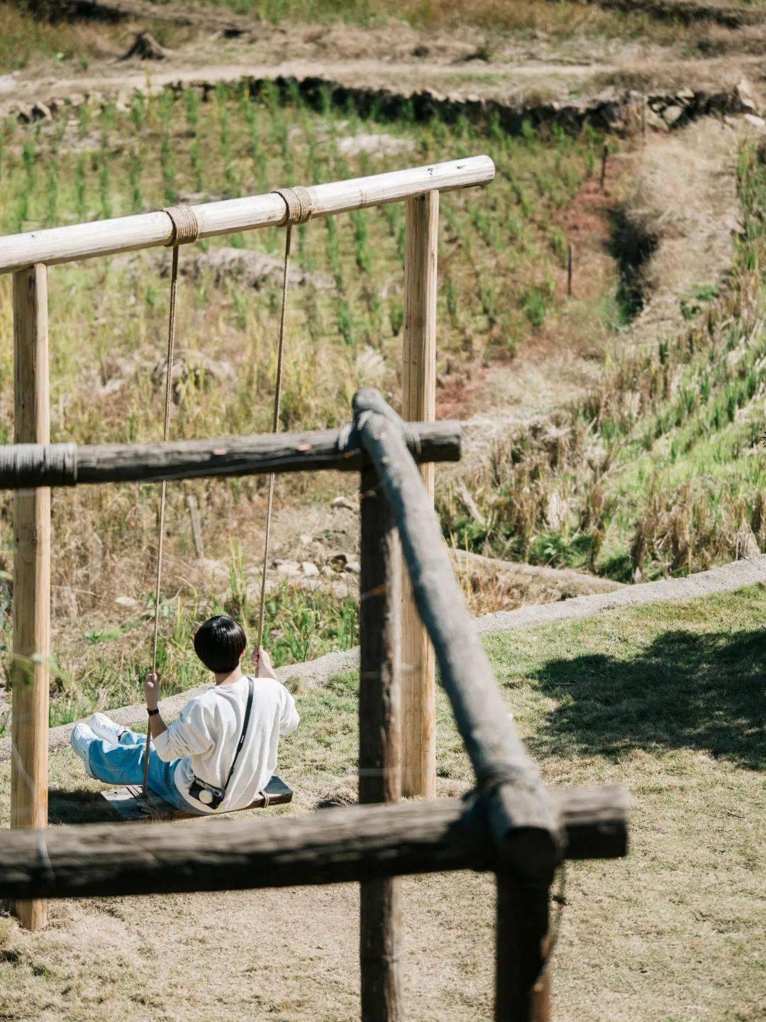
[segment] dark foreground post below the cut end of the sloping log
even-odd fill
[[[549,1022],[548,892],[497,874],[495,1022]]]

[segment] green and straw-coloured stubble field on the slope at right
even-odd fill
[[[482,521],[445,498],[458,545],[624,580],[766,547],[762,144],[743,146],[737,174],[728,283],[681,299],[677,336],[608,360],[586,401],[501,439],[472,480]]]

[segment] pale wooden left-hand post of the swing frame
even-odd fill
[[[48,276],[45,266],[13,275],[13,396],[16,444],[50,443]],[[50,657],[50,490],[14,502],[11,662],[11,827],[48,823],[48,662]],[[45,926],[45,901],[17,901],[21,926]]]

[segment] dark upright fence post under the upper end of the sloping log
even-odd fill
[[[360,575],[360,802],[396,802],[401,790],[399,610],[401,553],[373,469],[362,473]],[[361,885],[363,1022],[399,1022],[398,877]]]

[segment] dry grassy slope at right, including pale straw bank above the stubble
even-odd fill
[[[444,495],[457,545],[629,580],[704,569],[763,542],[764,150],[743,144],[733,168],[729,132],[693,126],[687,148],[659,147],[665,162],[648,153],[642,231],[660,241],[644,272],[657,292],[586,400],[487,446],[469,483],[484,524]],[[689,181],[676,201],[673,168]],[[666,207],[647,180],[662,182]],[[727,219],[739,210],[735,239]]]

